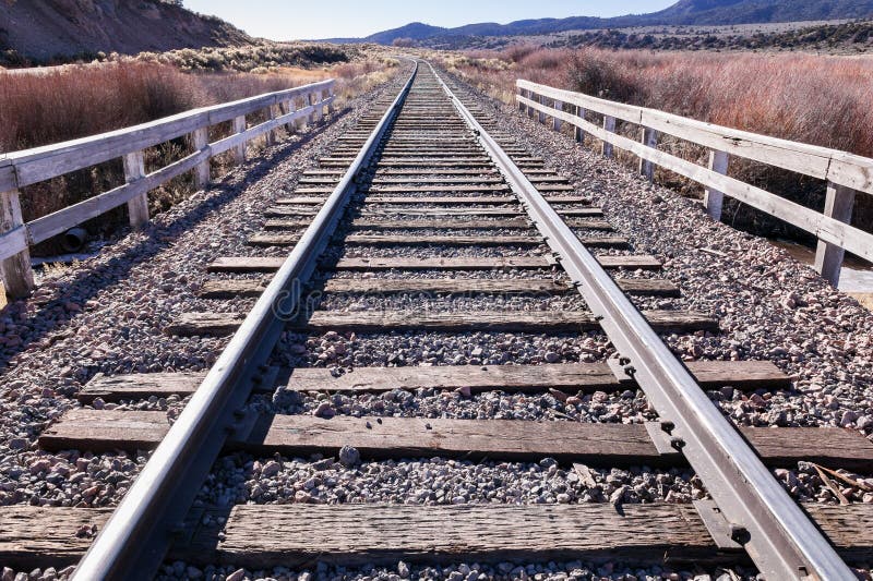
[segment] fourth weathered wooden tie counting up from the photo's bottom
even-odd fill
[[[691,311],[644,311],[646,319],[658,332],[717,332],[718,319]],[[242,323],[243,315],[235,313],[182,313],[165,328],[167,335],[226,336]],[[406,313],[316,311],[308,320],[290,322],[289,327],[309,331],[354,330],[387,332],[392,330],[445,330],[455,332],[582,332],[600,328],[596,317],[587,312],[490,312],[473,313]]]

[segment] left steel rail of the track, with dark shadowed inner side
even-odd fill
[[[179,419],[79,562],[79,581],[152,579],[251,395],[303,285],[330,242],[357,178],[378,149],[412,85],[409,80],[264,290]]]

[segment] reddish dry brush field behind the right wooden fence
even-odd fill
[[[516,78],[873,157],[873,59],[512,47],[446,59],[505,102]]]

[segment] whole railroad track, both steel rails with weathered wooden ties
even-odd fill
[[[873,510],[801,510],[769,469],[814,461],[870,472],[873,446],[841,429],[736,429],[704,389],[780,389],[790,379],[768,362],[677,360],[657,334],[717,334],[717,318],[671,308],[681,289],[659,277],[659,261],[635,253],[599,208],[429,64],[418,63],[392,99],[373,104],[292,195],[275,201],[250,239],[250,255],[210,266],[213,279],[201,298],[249,298],[251,310],[183,313],[167,327],[180,337],[232,336],[207,374],[97,376],[79,396],[86,404],[190,397],[171,426],[165,412],[82,408],[43,434],[47,450],[153,449],[118,508],[4,509],[10,525],[0,533],[0,555],[21,566],[63,565],[86,552],[76,579],[151,578],[167,558],[253,569],[320,559],[356,566],[751,558],[767,579],[853,579],[844,559],[869,558]],[[435,307],[440,302],[449,308]],[[358,307],[343,307],[351,303]],[[536,365],[494,364],[476,349],[464,364],[440,365],[436,355],[429,366],[403,366],[396,358],[387,366],[360,365],[348,352],[357,337],[378,342],[404,331],[446,342],[464,334],[588,334],[611,347],[593,350],[589,362],[550,353]],[[326,341],[300,343],[298,336]],[[295,366],[316,343],[321,361],[338,365]],[[636,389],[657,421],[369,415],[343,404],[343,397],[390,400],[397,390],[447,398],[549,392],[579,401]],[[265,395],[272,406],[263,404]],[[196,501],[216,459],[231,452],[252,455],[262,471],[312,455],[336,457],[349,470],[360,460],[431,457],[542,462],[585,486],[591,481],[591,489],[589,465],[690,465],[708,495],[694,504],[623,504],[621,495],[577,504],[564,494],[516,506],[466,505],[426,492],[411,505],[319,506],[296,489],[290,504]],[[505,500],[501,493],[494,498]],[[96,538],[80,534],[92,528]],[[37,543],[35,529],[44,533]]]

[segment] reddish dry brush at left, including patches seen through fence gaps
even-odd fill
[[[94,135],[327,77],[337,78],[337,106],[342,108],[349,98],[386,81],[397,64],[371,59],[312,69],[273,66],[258,73],[187,73],[167,64],[127,60],[40,74],[0,72],[0,153]],[[258,116],[249,121],[256,122]],[[228,132],[229,124],[223,124],[211,133],[220,138]],[[154,170],[189,150],[184,138],[175,140],[147,149],[146,165]],[[217,174],[227,169],[223,161],[214,165]],[[22,192],[24,218],[45,216],[121,183],[121,164],[115,160],[28,186]],[[166,209],[192,191],[190,175],[177,178],[152,192],[152,209]],[[115,210],[92,221],[89,229],[111,231],[123,221],[123,210]],[[55,250],[50,245],[37,249],[37,254]]]

